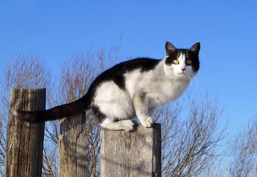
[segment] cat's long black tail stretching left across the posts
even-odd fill
[[[35,112],[14,110],[14,116],[28,122],[44,122],[49,120],[62,119],[63,117],[73,116],[87,110],[90,101],[84,96],[74,102],[53,107],[48,110]]]

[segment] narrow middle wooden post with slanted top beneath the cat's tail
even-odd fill
[[[85,112],[61,120],[58,176],[89,176]]]

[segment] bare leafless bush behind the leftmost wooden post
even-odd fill
[[[21,89],[47,87],[49,96],[51,91],[49,78],[51,78],[51,74],[49,70],[46,70],[44,60],[40,58],[40,55],[33,55],[31,52],[27,55],[23,52],[13,54],[12,60],[7,63],[3,70],[0,80],[0,173],[2,175],[4,175],[10,89],[12,87]]]

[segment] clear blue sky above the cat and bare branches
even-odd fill
[[[0,0],[0,69],[13,53],[40,54],[53,75],[71,53],[117,46],[163,58],[164,45],[201,43],[192,87],[218,93],[221,123],[237,129],[257,114],[256,1]],[[125,60],[125,59],[124,59]],[[56,72],[54,72],[54,70]]]

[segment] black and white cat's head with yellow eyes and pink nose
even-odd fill
[[[173,79],[192,79],[199,70],[200,43],[190,49],[176,49],[172,43],[166,42],[164,71]]]

